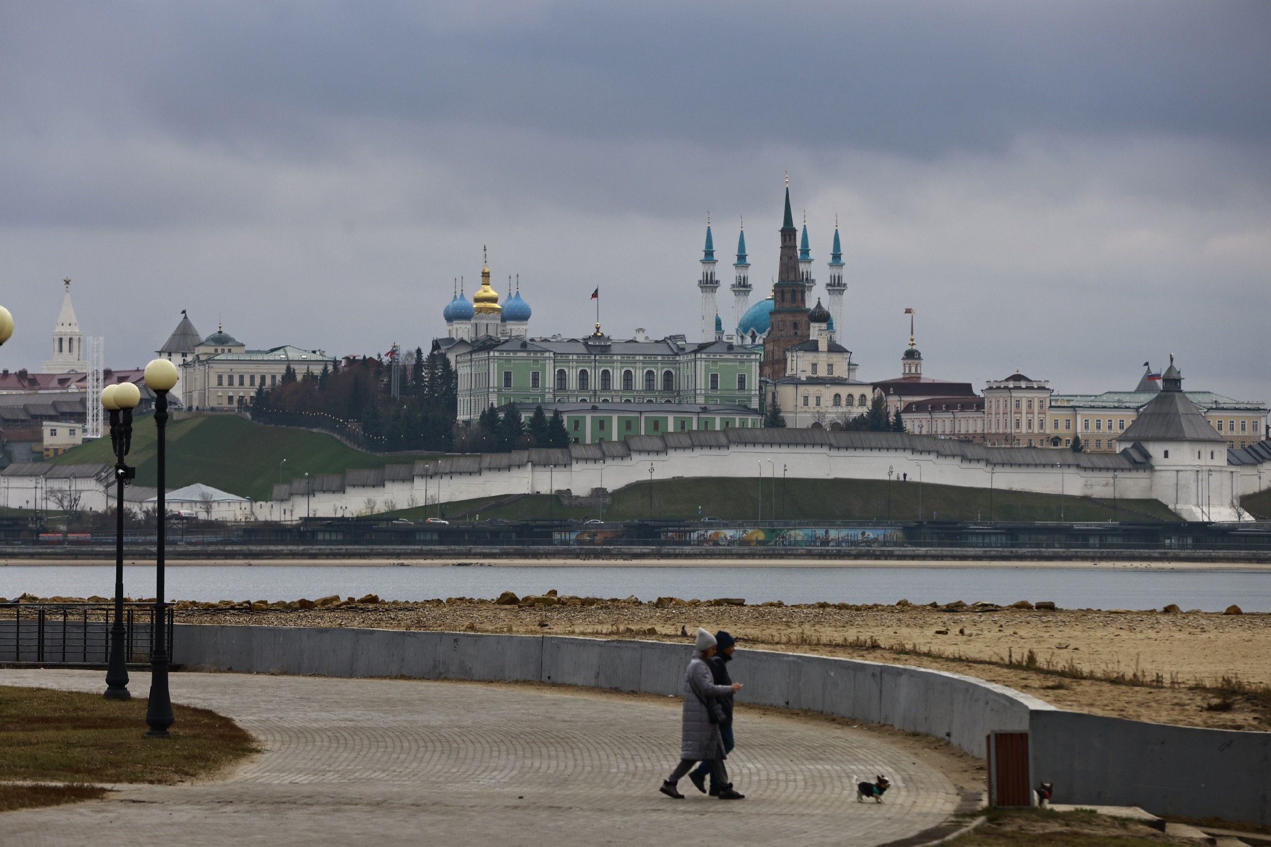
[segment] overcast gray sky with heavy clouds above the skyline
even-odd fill
[[[1173,352],[1271,400],[1268,44],[1265,1],[3,4],[0,364],[48,356],[66,276],[113,367],[182,309],[427,349],[483,244],[533,334],[599,284],[606,331],[693,338],[707,212],[760,298],[789,171],[862,378],[913,306],[928,376],[1127,390]]]

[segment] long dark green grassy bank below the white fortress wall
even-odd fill
[[[784,488],[784,507],[782,490]],[[637,483],[614,491],[613,505],[605,518],[629,521],[649,517],[649,485]],[[597,518],[596,508],[564,508],[559,499],[547,494],[524,497],[503,505],[491,505],[498,498],[445,503],[446,514],[477,509],[482,519],[503,518]],[[759,516],[758,480],[676,479],[653,483],[653,517],[695,519],[710,516],[723,519],[751,521]],[[763,484],[763,519],[773,516],[773,481]],[[1063,510],[1060,504],[1063,503]],[[789,521],[872,521],[887,518],[887,480],[777,480],[777,517]],[[698,510],[700,507],[700,512]],[[1179,518],[1157,500],[1117,500],[1116,517],[1121,521],[1178,521]],[[1132,509],[1134,512],[1130,512]],[[988,489],[955,485],[923,485],[923,517],[932,513],[942,521],[989,519]],[[1138,513],[1138,514],[1136,514]],[[400,509],[394,517],[419,519],[437,514],[436,507]],[[993,493],[993,517],[996,521],[1111,521],[1111,502],[1026,491]],[[918,483],[891,484],[891,517],[896,521],[918,518]]]

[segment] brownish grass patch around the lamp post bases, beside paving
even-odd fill
[[[145,737],[146,700],[0,686],[0,780],[174,784],[257,750],[229,717],[192,706],[173,711],[172,738],[153,739]],[[0,804],[13,803],[15,791],[0,786]],[[29,797],[39,800],[41,791],[32,789]]]

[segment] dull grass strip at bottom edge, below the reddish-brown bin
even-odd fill
[[[1178,843],[1138,820],[1108,818],[1080,809],[990,809],[986,817],[980,827],[949,843],[957,847],[1144,847]]]

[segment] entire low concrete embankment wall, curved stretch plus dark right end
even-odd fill
[[[683,644],[404,630],[177,625],[188,667],[330,677],[536,681],[680,695]],[[807,709],[944,738],[985,756],[994,730],[1031,734],[1035,782],[1056,801],[1268,822],[1271,734],[1059,711],[1004,686],[874,662],[738,650],[741,702]]]

